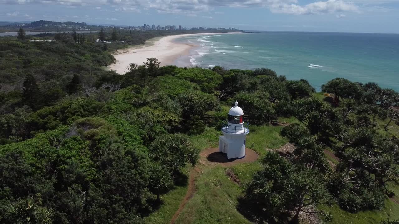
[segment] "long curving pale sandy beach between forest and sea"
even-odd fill
[[[144,45],[129,47],[116,51],[114,55],[117,59],[116,63],[109,66],[110,70],[115,70],[123,75],[130,65],[136,63],[144,64],[147,58],[157,58],[161,66],[171,65],[179,57],[186,56],[190,53],[190,49],[197,47],[188,43],[176,43],[173,40],[179,37],[196,36],[196,35],[212,35],[226,33],[192,33],[171,35],[146,41]]]

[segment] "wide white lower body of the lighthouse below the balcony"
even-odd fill
[[[219,137],[219,151],[226,153],[227,159],[245,157],[245,135],[227,135]]]

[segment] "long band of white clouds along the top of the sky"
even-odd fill
[[[315,0],[317,1],[317,0]],[[0,0],[0,4],[61,4],[66,7],[96,6],[101,10],[105,6],[115,7],[117,12],[137,12],[153,9],[159,13],[184,14],[187,16],[209,12],[219,7],[268,8],[273,13],[308,15],[334,14],[336,12],[359,12],[365,4],[379,2],[399,2],[399,0],[320,0],[307,5],[299,0]],[[107,10],[107,9],[105,9]],[[223,14],[223,12],[215,12]]]

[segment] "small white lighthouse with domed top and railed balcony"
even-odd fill
[[[223,136],[219,137],[219,151],[227,154],[227,159],[245,157],[245,136],[249,133],[248,124],[244,124],[244,112],[235,102],[230,108],[227,126],[222,128]]]

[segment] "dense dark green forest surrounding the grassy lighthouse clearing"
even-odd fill
[[[308,81],[271,69],[160,67],[157,59],[118,75],[103,69],[115,61],[107,44],[0,39],[1,223],[141,223],[198,164],[202,149],[190,136],[220,130],[235,100],[251,125],[297,120],[280,133],[294,151],[268,151],[243,187],[237,210],[252,222],[296,223],[320,204],[379,210],[394,195],[394,90],[336,78],[322,86],[331,97],[319,98]]]

